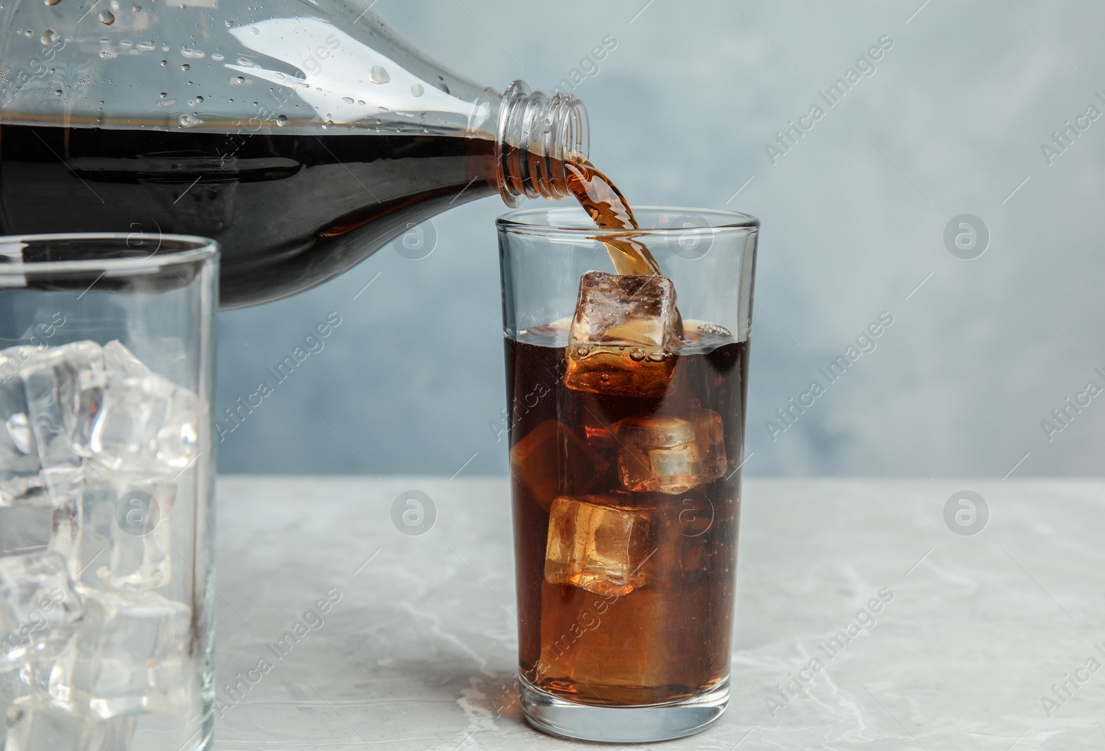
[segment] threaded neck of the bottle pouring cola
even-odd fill
[[[589,150],[582,102],[571,94],[530,92],[523,81],[507,87],[495,140],[495,177],[507,206],[523,198],[564,198],[565,161],[586,159]]]

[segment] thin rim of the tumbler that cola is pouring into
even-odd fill
[[[533,232],[537,234],[586,234],[594,236],[596,233],[648,233],[653,236],[664,236],[664,234],[684,234],[688,230],[748,230],[758,229],[760,226],[759,219],[750,213],[745,213],[743,211],[730,211],[728,209],[705,209],[705,208],[692,208],[685,206],[634,206],[633,216],[642,219],[653,213],[667,212],[678,215],[696,215],[702,217],[708,223],[702,227],[648,227],[642,225],[640,228],[629,228],[629,229],[607,229],[601,227],[596,227],[593,223],[580,225],[580,223],[547,223],[546,221],[526,221],[530,217],[536,217],[538,215],[549,218],[555,218],[557,216],[570,215],[572,217],[586,217],[587,212],[583,211],[581,207],[570,206],[570,207],[555,207],[555,208],[533,208],[533,209],[520,209],[516,211],[507,211],[506,213],[499,216],[495,220],[495,226],[502,231],[515,231],[515,232]],[[714,221],[717,219],[718,221]]]

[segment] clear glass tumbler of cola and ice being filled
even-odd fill
[[[688,736],[729,693],[759,222],[634,213],[498,220],[522,702],[592,741]],[[607,273],[628,241],[664,277]]]

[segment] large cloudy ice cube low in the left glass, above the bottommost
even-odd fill
[[[116,594],[82,587],[85,622],[57,658],[50,693],[107,719],[173,715],[187,706],[185,670],[191,613],[154,592]]]

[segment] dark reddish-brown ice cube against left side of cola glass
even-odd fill
[[[546,511],[557,496],[583,493],[611,462],[559,420],[548,419],[511,448],[511,476]]]

